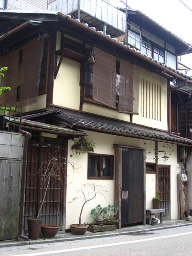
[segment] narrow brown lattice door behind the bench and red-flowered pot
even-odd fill
[[[170,166],[158,165],[158,190],[162,192],[161,208],[165,209],[163,213],[164,220],[171,219],[170,209]]]

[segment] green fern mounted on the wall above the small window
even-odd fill
[[[77,156],[84,155],[87,152],[94,152],[94,148],[96,148],[97,143],[93,142],[92,140],[88,141],[83,136],[79,141],[75,141],[75,144],[72,146],[72,152],[73,154],[70,155],[72,157],[74,155],[74,150]]]

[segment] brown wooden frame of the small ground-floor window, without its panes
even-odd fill
[[[91,176],[89,174],[90,169],[90,157],[91,156],[98,156],[99,157],[99,168],[98,168],[98,176]],[[101,172],[101,158],[108,157],[110,158],[110,176],[100,176]],[[88,153],[88,167],[87,167],[87,179],[88,180],[113,180],[113,173],[114,173],[114,156],[113,155],[103,155],[103,154],[93,154]]]

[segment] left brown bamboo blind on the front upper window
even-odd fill
[[[116,58],[95,47],[94,51],[92,98],[116,109]]]

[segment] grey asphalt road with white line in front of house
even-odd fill
[[[0,248],[0,256],[191,256],[192,227],[52,244]]]

